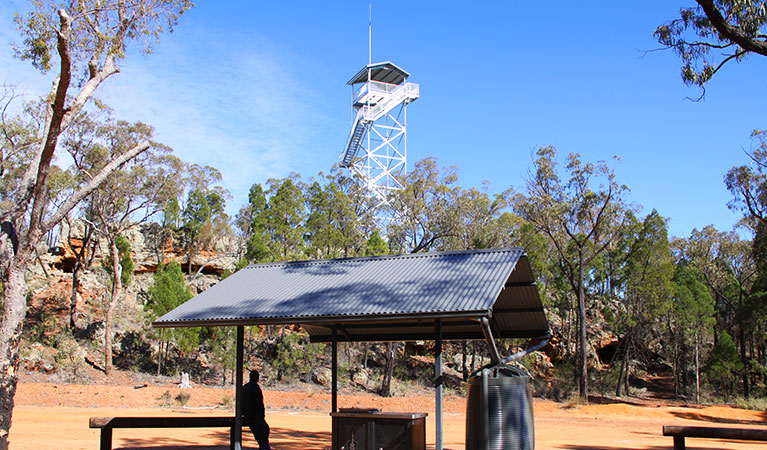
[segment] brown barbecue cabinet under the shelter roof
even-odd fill
[[[425,413],[341,409],[333,418],[333,450],[425,450]]]

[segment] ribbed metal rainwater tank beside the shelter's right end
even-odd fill
[[[530,374],[498,364],[469,378],[466,450],[533,450]]]

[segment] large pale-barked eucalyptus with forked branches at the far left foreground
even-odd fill
[[[120,165],[146,151],[138,143],[93,175],[66,201],[51,208],[47,193],[54,154],[62,130],[80,113],[97,88],[119,72],[128,46],[149,53],[152,44],[180,15],[189,0],[83,0],[61,5],[40,0],[16,17],[22,42],[17,55],[47,73],[56,66],[51,91],[45,97],[45,118],[39,144],[0,211],[0,280],[3,315],[0,323],[0,450],[8,447],[18,367],[19,337],[27,311],[24,272],[41,238]]]

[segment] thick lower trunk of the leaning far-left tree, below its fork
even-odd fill
[[[9,266],[3,280],[3,319],[0,326],[0,450],[8,448],[18,382],[19,339],[27,313],[26,265],[11,263]]]

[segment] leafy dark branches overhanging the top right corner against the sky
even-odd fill
[[[682,80],[704,89],[725,64],[767,56],[767,1],[696,0],[659,26],[655,38],[682,59]]]

